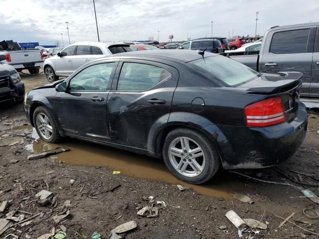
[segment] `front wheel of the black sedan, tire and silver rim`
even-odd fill
[[[61,140],[56,122],[47,109],[40,106],[33,113],[33,124],[39,137],[48,143],[57,143]]]

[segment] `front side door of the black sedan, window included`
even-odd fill
[[[62,129],[71,135],[109,141],[107,97],[118,61],[88,65],[57,92],[54,111]]]

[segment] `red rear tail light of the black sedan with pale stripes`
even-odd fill
[[[279,97],[263,100],[244,108],[247,126],[262,127],[285,121],[283,105]]]

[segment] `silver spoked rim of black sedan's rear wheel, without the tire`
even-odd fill
[[[175,138],[169,145],[168,157],[171,165],[186,177],[198,176],[205,167],[205,154],[194,140]]]

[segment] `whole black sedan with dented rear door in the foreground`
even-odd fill
[[[162,157],[200,184],[220,165],[263,168],[296,152],[307,129],[301,76],[202,51],[128,52],[30,91],[24,110],[46,142],[69,136]]]

